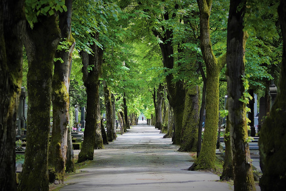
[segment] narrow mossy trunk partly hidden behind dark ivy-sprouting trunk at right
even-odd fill
[[[228,104],[226,103],[226,109],[228,109]],[[220,176],[220,180],[229,181],[233,179],[232,172],[232,160],[231,160],[231,145],[229,137],[229,116],[226,116],[226,133],[224,134],[224,143],[226,146],[223,158],[223,173]]]

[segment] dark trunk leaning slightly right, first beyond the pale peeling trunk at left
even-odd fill
[[[98,41],[99,33],[94,36]],[[99,76],[102,66],[103,50],[95,43],[91,45],[92,55],[82,52],[83,58],[83,82],[86,87],[86,124],[84,129],[84,139],[82,149],[78,154],[78,163],[86,160],[93,160],[94,148],[96,144],[97,130],[101,130],[100,120],[97,118],[97,107],[99,101]],[[92,70],[88,70],[92,67]],[[101,136],[101,133],[100,133]]]

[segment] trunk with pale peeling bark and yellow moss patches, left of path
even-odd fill
[[[66,0],[67,11],[59,15],[59,27],[63,41],[70,43],[69,50],[56,52],[56,58],[63,63],[54,63],[52,77],[53,130],[49,145],[49,181],[63,184],[66,166],[67,136],[69,127],[69,84],[71,75],[71,59],[75,40],[71,36],[71,0]]]

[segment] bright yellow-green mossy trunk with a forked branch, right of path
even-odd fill
[[[211,0],[197,0],[200,10],[200,47],[206,63],[206,122],[203,145],[199,158],[189,170],[214,169],[217,139],[219,77],[220,70],[226,63],[226,54],[216,58],[211,44],[209,17],[212,7]]]

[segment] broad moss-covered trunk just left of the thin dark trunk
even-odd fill
[[[179,151],[195,152],[197,150],[200,107],[199,95],[200,90],[198,86],[186,88],[181,148]]]

